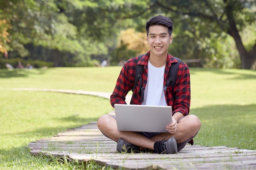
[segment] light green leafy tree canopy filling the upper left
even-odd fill
[[[62,65],[65,55],[72,55],[76,62],[105,58],[117,45],[121,28],[115,24],[134,13],[133,7],[143,11],[144,5],[129,0],[0,1],[0,20],[5,18],[10,25],[10,42],[4,46],[22,57],[31,57],[32,51],[50,51],[43,53],[54,58],[55,66]]]

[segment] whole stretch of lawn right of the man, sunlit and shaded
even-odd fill
[[[202,121],[202,146],[255,150],[256,72],[191,69],[191,112]]]

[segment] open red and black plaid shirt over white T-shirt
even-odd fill
[[[147,75],[148,75],[148,57],[150,55],[150,51],[146,53],[138,64],[144,65],[144,72],[142,73],[141,77],[143,79],[143,87],[145,89],[147,84]],[[177,62],[177,60],[168,54],[167,56],[167,64],[165,67],[164,73],[164,82],[168,79],[168,72],[169,68],[172,63]],[[137,65],[137,57],[128,60],[123,68],[121,69],[120,75],[117,79],[117,84],[115,89],[110,96],[110,103],[112,107],[114,104],[126,104],[125,99],[127,93],[132,89],[134,80],[135,80],[135,68]],[[139,81],[137,83],[136,89],[132,95],[132,99],[130,104],[141,104],[141,96],[139,94]],[[174,89],[172,88],[171,84],[168,86],[167,91],[164,91],[166,103],[168,106],[173,107],[173,114],[176,112],[182,113],[184,116],[189,114],[189,107],[190,107],[190,73],[189,67],[184,63],[180,62],[178,74],[177,74],[177,81]],[[175,94],[175,99],[173,97]]]

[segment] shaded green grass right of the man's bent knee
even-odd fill
[[[195,109],[202,121],[202,127],[195,137],[196,144],[255,150],[255,109],[255,104],[205,106]]]

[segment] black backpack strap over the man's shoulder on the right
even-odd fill
[[[175,84],[176,84],[176,80],[177,80],[177,74],[178,74],[178,70],[179,70],[179,65],[181,60],[177,57],[175,57],[175,59],[178,61],[177,63],[172,63],[171,64],[171,68],[169,69],[169,78],[166,81],[165,85],[164,85],[164,91],[167,90],[170,82],[171,82],[171,86],[174,88]]]

